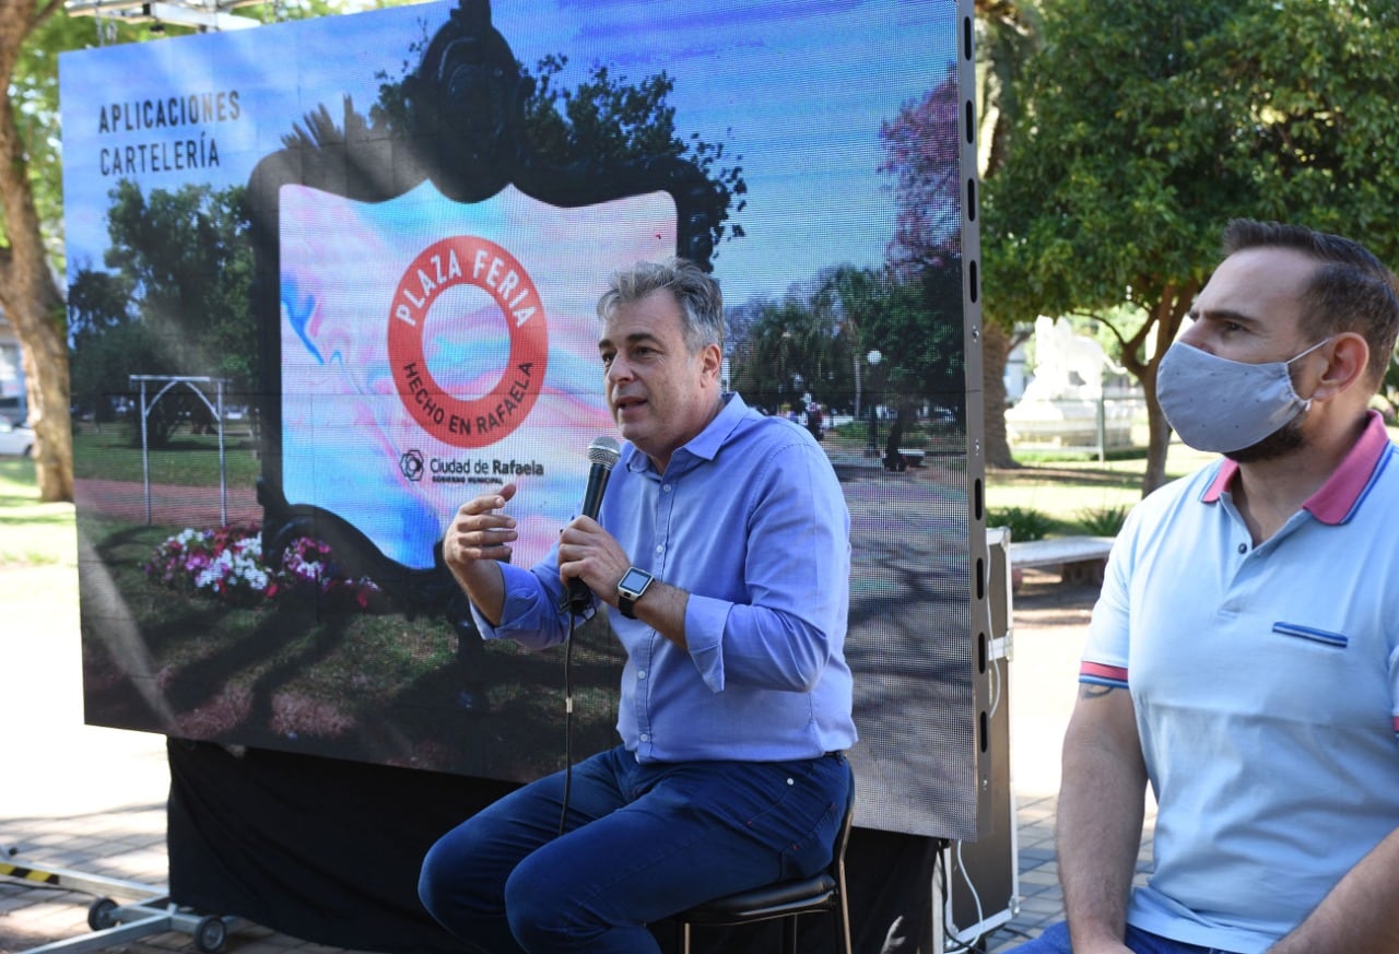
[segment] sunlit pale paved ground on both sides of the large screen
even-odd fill
[[[73,568],[0,567],[6,712],[0,723],[0,862],[136,883],[158,898],[166,877],[165,740],[83,725],[77,608],[50,596],[53,575],[66,572]],[[986,954],[1009,951],[1063,916],[1053,850],[1059,741],[1073,705],[1077,655],[1094,595],[1091,586],[1030,571],[1014,596],[1007,699],[1018,901],[1009,922],[982,939],[979,950]],[[1143,871],[1149,846],[1150,825]],[[92,899],[87,891],[0,877],[0,954],[66,939],[95,941],[88,926]],[[169,913],[162,902],[152,911]],[[155,954],[197,947],[192,933],[165,930],[84,950]],[[246,922],[232,926],[224,950],[358,954]]]

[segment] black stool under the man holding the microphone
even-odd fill
[[[835,850],[824,871],[809,878],[776,881],[761,888],[740,891],[680,912],[676,915],[676,946],[680,954],[690,954],[691,925],[754,925],[775,918],[782,919],[783,954],[797,954],[796,919],[821,911],[834,915],[837,954],[852,954],[851,915],[845,904],[845,845],[851,839],[853,818],[852,783],[841,831],[835,835]]]

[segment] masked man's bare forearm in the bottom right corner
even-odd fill
[[[1399,830],[1350,869],[1316,909],[1267,954],[1399,951]]]

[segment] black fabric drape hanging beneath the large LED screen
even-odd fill
[[[208,743],[169,740],[171,899],[238,915],[333,947],[446,954],[460,946],[418,904],[417,877],[436,838],[511,783]],[[856,828],[846,852],[855,950],[880,954],[895,919],[914,951],[925,936],[930,838]],[[673,927],[653,927],[670,950]],[[830,923],[807,916],[802,950],[832,951]],[[768,954],[776,929],[695,929],[694,950]]]

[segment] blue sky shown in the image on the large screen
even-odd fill
[[[63,55],[70,269],[101,266],[106,193],[122,175],[144,190],[246,182],[306,112],[323,105],[339,120],[344,97],[367,111],[378,95],[375,74],[397,77],[404,62],[416,62],[411,43],[431,35],[450,8],[429,3]],[[674,80],[669,102],[677,131],[741,155],[748,206],[736,221],[747,235],[723,242],[715,259],[733,305],[781,297],[825,266],[883,262],[893,194],[890,176],[876,171],[879,124],[944,76],[954,59],[957,4],[498,0],[492,22],[530,67],[546,55],[567,55],[569,87],[593,64],[631,81],[665,70]],[[147,99],[218,92],[225,94],[222,118],[201,115],[161,129],[125,124]],[[161,168],[143,164],[143,147]]]

